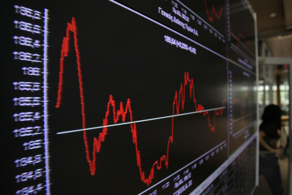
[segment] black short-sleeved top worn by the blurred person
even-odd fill
[[[277,141],[279,140],[280,136],[278,134],[277,131],[277,127],[274,123],[262,123],[259,126],[259,130],[263,131],[266,136],[263,137],[263,139],[266,141],[267,144],[269,144],[269,146],[271,148],[276,149],[277,146]],[[267,149],[265,147],[262,147],[262,145],[259,145],[259,150],[260,151],[267,151]]]

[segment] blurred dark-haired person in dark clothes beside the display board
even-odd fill
[[[283,187],[278,164],[282,151],[276,147],[281,129],[281,109],[276,105],[269,105],[262,115],[259,126],[259,174],[266,178],[274,195],[282,195]]]

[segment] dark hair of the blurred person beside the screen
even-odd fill
[[[281,129],[281,114],[282,111],[279,106],[274,104],[268,105],[262,114],[262,122],[274,123],[278,129]]]

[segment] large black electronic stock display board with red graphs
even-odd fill
[[[1,192],[252,194],[244,1],[11,1],[1,13]]]

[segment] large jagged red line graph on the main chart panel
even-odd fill
[[[62,90],[63,90],[63,73],[64,73],[64,59],[68,56],[69,51],[69,41],[70,41],[70,31],[74,34],[74,46],[76,51],[76,57],[77,57],[77,69],[78,69],[78,80],[79,80],[79,89],[80,89],[80,101],[81,101],[81,114],[82,114],[82,128],[86,128],[86,122],[85,122],[85,104],[84,104],[84,94],[83,94],[83,83],[82,83],[82,73],[81,73],[81,63],[80,63],[80,55],[79,55],[79,49],[78,49],[78,39],[77,39],[77,27],[75,18],[72,18],[71,23],[67,24],[66,29],[66,37],[63,38],[62,42],[62,49],[61,49],[61,59],[60,59],[60,73],[59,73],[59,86],[58,86],[58,94],[57,94],[57,104],[56,108],[59,108],[61,106],[61,98],[62,98]],[[205,108],[202,104],[197,104],[196,98],[194,97],[194,84],[193,79],[189,78],[189,73],[185,72],[184,74],[184,81],[180,83],[180,89],[179,92],[175,92],[173,104],[172,104],[172,115],[179,114],[180,109],[184,109],[184,102],[186,97],[186,86],[189,87],[189,98],[193,99],[195,110],[196,111],[203,111]],[[222,102],[222,106],[224,105],[225,98]],[[103,119],[103,126],[107,126],[109,124],[108,116],[110,115],[110,107],[112,107],[112,114],[113,114],[113,123],[117,123],[118,121],[125,122],[127,114],[130,115],[130,121],[133,121],[133,111],[131,109],[131,101],[130,99],[127,100],[126,106],[124,107],[123,102],[120,102],[120,108],[117,110],[116,108],[116,102],[113,99],[112,95],[109,95],[109,101],[107,103],[107,110],[105,114],[105,118]],[[208,126],[210,127],[210,131],[215,132],[215,120],[217,115],[223,114],[223,108],[214,110],[214,122],[213,125],[211,124],[210,118],[209,118],[209,112],[203,111],[200,112],[204,117],[207,118]],[[168,144],[167,144],[167,150],[166,155],[163,155],[160,157],[159,160],[156,160],[152,168],[150,170],[149,176],[145,176],[145,172],[142,171],[141,168],[141,152],[138,149],[138,140],[137,140],[137,126],[136,123],[130,124],[130,129],[132,133],[133,143],[135,144],[135,150],[136,150],[136,160],[137,160],[137,166],[139,167],[140,171],[140,177],[141,181],[145,184],[149,185],[152,182],[152,179],[154,178],[154,171],[155,168],[157,170],[162,168],[163,161],[168,168],[169,165],[169,144],[173,142],[173,123],[174,123],[174,117],[172,117],[172,130],[171,130],[171,136],[168,137]],[[86,131],[83,131],[83,138],[84,138],[84,144],[85,144],[85,152],[86,152],[86,159],[89,163],[90,173],[91,175],[95,175],[96,173],[96,153],[99,153],[102,147],[102,143],[106,140],[106,135],[108,133],[108,128],[103,127],[103,130],[101,133],[99,133],[98,138],[93,138],[93,151],[92,151],[92,160],[89,157],[89,144],[87,141],[87,135]]]

